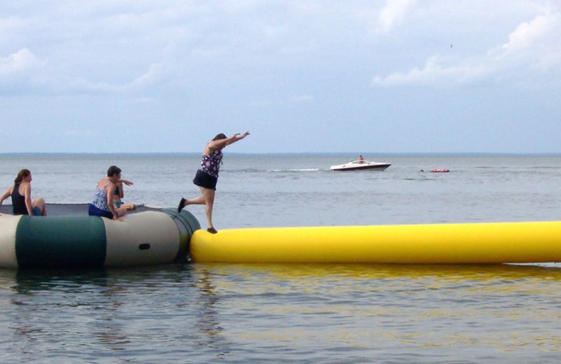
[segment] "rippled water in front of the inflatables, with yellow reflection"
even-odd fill
[[[0,362],[553,362],[560,279],[555,265],[0,270]]]

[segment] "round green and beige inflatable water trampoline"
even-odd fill
[[[0,267],[126,267],[184,261],[200,229],[189,211],[139,207],[122,221],[88,216],[88,204],[48,204],[49,216],[0,210]]]

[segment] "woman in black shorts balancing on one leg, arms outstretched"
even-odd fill
[[[218,170],[222,164],[222,149],[247,137],[249,134],[250,132],[245,132],[243,134],[234,134],[227,138],[226,135],[221,133],[209,141],[203,149],[203,160],[193,179],[193,183],[201,190],[201,196],[189,199],[181,197],[180,203],[177,205],[177,212],[180,212],[189,204],[205,205],[205,214],[208,222],[207,231],[212,234],[217,233],[214,225],[212,225],[212,207],[215,202]]]

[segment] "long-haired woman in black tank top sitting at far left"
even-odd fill
[[[31,198],[32,176],[29,169],[22,169],[13,181],[13,186],[0,196],[0,205],[8,196],[12,197],[14,215],[47,216],[47,208],[43,197]]]

